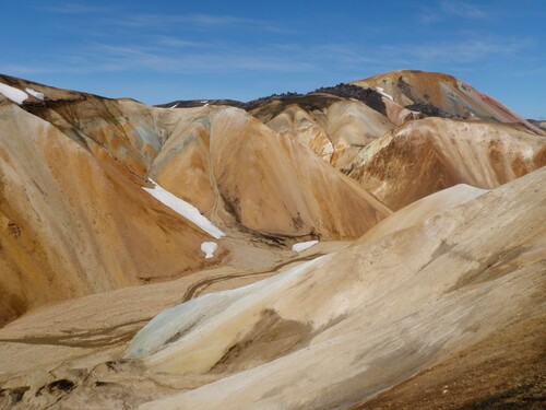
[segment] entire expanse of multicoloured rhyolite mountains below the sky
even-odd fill
[[[442,73],[157,107],[0,75],[0,408],[542,406],[544,165]]]

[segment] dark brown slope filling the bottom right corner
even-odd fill
[[[525,317],[351,410],[544,409],[545,325]]]

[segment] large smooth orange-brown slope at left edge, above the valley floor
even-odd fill
[[[201,268],[210,238],[107,153],[0,106],[0,324],[50,301]]]

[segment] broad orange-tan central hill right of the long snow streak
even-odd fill
[[[191,113],[199,118],[171,132],[152,176],[213,220],[268,235],[339,239],[360,236],[390,213],[309,148],[244,110]]]

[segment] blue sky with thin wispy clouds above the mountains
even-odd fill
[[[546,1],[10,1],[0,72],[149,104],[451,73],[546,118]]]

